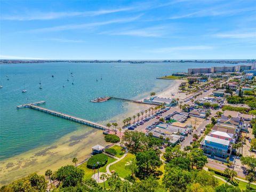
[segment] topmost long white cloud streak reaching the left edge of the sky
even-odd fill
[[[52,20],[60,19],[66,17],[77,17],[77,16],[96,16],[117,12],[124,12],[132,10],[133,7],[124,7],[121,9],[113,10],[97,10],[97,11],[84,11],[84,12],[29,12],[28,14],[24,13],[22,15],[2,15],[1,20],[16,20],[16,21],[32,21],[32,20]]]

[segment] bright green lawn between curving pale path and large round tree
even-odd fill
[[[131,174],[131,171],[125,164],[128,164],[132,159],[135,158],[135,155],[128,153],[125,158],[121,161],[111,165],[109,171],[115,170],[121,178],[125,178],[127,175]]]

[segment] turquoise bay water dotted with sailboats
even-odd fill
[[[17,105],[45,100],[46,107],[94,122],[124,113],[123,102],[90,100],[113,95],[136,98],[162,91],[172,81],[156,77],[187,71],[187,68],[222,66],[202,63],[36,63],[0,65],[0,159],[10,158],[39,146],[50,145],[67,133],[92,129]],[[71,77],[73,73],[74,78]],[[54,75],[54,77],[52,77]],[[9,77],[6,77],[9,76]],[[100,79],[102,77],[102,80]],[[7,81],[7,78],[10,80]],[[69,82],[67,81],[69,78]],[[96,79],[98,78],[98,82]],[[39,90],[39,79],[43,89]],[[75,84],[72,85],[73,81]],[[65,87],[62,87],[65,85]],[[24,89],[26,93],[21,93]]]

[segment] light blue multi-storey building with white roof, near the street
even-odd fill
[[[230,145],[229,140],[206,135],[200,144],[204,153],[210,155],[211,157],[226,159],[230,156],[232,146]]]

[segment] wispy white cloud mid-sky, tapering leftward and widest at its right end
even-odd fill
[[[149,27],[143,29],[128,29],[121,31],[105,31],[100,34],[108,35],[128,35],[128,36],[139,36],[139,37],[162,37],[166,33],[166,27]]]

